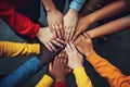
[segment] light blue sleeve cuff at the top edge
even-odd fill
[[[73,0],[69,8],[79,11],[86,0]]]

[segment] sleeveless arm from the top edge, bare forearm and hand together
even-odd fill
[[[64,35],[63,29],[63,14],[55,8],[52,0],[42,0],[42,3],[47,11],[47,20],[50,30],[54,37],[62,38]]]

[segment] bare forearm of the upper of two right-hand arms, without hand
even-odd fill
[[[83,20],[90,22],[90,24],[101,21],[103,18],[119,14],[126,10],[126,4],[122,0],[118,0],[107,4],[106,7],[83,16]],[[88,23],[87,23],[88,24]]]

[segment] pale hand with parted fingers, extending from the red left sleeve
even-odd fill
[[[61,48],[65,45],[65,42],[62,39],[55,39],[53,37],[53,34],[50,32],[49,27],[40,28],[37,34],[37,37],[50,51],[56,51],[54,45]]]

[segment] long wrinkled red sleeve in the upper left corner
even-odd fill
[[[0,0],[0,17],[21,35],[35,38],[39,30],[38,24],[16,12],[14,7],[6,0]]]

